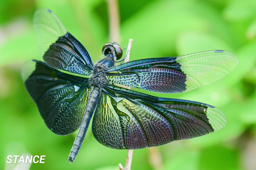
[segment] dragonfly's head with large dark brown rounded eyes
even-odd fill
[[[123,50],[117,43],[106,43],[102,47],[102,54],[105,57],[113,58],[113,60],[119,60],[123,55]]]

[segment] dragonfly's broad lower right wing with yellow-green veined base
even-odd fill
[[[93,118],[93,135],[114,149],[141,149],[215,132],[225,115],[208,104],[154,97],[106,85]]]

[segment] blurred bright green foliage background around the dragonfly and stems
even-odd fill
[[[0,1],[0,169],[29,169],[7,164],[8,155],[46,155],[30,169],[118,169],[126,150],[102,146],[87,132],[74,164],[67,163],[76,133],[57,136],[45,126],[30,99],[19,70],[39,59],[32,16],[51,9],[89,51],[94,63],[108,43],[108,8],[104,0]],[[239,57],[223,79],[183,94],[151,95],[213,105],[227,125],[202,137],[135,150],[132,169],[254,169],[256,167],[256,1],[255,0],[120,0],[120,35],[124,47],[133,38],[130,60],[227,50]]]

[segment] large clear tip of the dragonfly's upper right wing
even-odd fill
[[[238,57],[224,50],[203,51],[177,57],[177,63],[186,74],[186,90],[211,84],[229,74],[238,63]]]

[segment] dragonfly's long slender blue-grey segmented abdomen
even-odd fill
[[[100,96],[101,96],[101,89],[99,87],[94,87],[94,89],[91,91],[90,97],[88,99],[88,103],[87,103],[87,106],[85,109],[83,121],[81,123],[79,132],[76,135],[73,147],[70,151],[68,162],[73,163],[73,161],[76,158],[76,155],[78,154],[78,152],[82,146],[86,132],[88,130],[88,126],[91,121],[91,117],[93,116],[93,113],[95,111],[95,108],[97,106]]]

